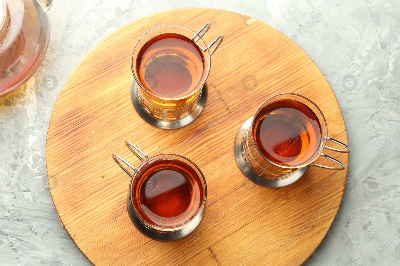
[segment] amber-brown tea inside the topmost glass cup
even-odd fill
[[[186,36],[164,33],[140,49],[136,63],[141,83],[156,95],[181,97],[193,91],[204,72],[204,58]]]

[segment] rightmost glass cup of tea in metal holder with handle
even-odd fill
[[[346,150],[326,146],[335,142]],[[244,175],[265,187],[284,187],[297,181],[307,167],[343,170],[346,166],[324,148],[349,153],[350,148],[328,137],[324,114],[310,99],[295,93],[274,95],[263,102],[236,135],[236,162]],[[340,167],[313,164],[323,156]]]

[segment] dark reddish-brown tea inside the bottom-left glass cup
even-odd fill
[[[179,160],[161,159],[145,166],[135,183],[133,203],[150,225],[185,224],[197,214],[204,197],[197,173]]]

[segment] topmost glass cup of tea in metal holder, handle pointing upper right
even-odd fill
[[[195,120],[206,104],[206,79],[211,55],[224,39],[210,45],[198,32],[178,25],[164,25],[144,34],[132,53],[131,97],[138,114],[158,128],[174,129]],[[212,51],[211,48],[215,46]]]

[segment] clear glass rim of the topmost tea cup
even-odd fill
[[[166,97],[166,96],[157,95],[157,94],[151,92],[150,90],[148,90],[148,89],[146,88],[146,86],[144,86],[144,85],[140,82],[140,79],[139,79],[139,77],[138,77],[138,75],[137,75],[137,73],[136,73],[136,71],[135,71],[135,69],[136,69],[136,64],[134,64],[134,60],[135,60],[135,62],[136,62],[136,61],[137,61],[137,58],[134,58],[134,54],[135,54],[135,51],[138,51],[138,52],[139,52],[140,49],[142,49],[142,47],[143,47],[143,46],[138,47],[139,42],[140,42],[144,37],[146,37],[146,35],[148,35],[149,33],[153,32],[153,31],[155,31],[155,30],[158,30],[158,29],[160,29],[160,28],[166,28],[166,27],[176,27],[176,28],[181,28],[181,29],[184,29],[184,30],[188,30],[191,34],[193,34],[193,37],[196,36],[196,38],[198,38],[198,41],[201,40],[201,41],[202,41],[202,44],[204,44],[204,47],[206,47],[206,48],[205,48],[205,52],[207,53],[208,61],[210,61],[210,63],[208,64],[208,67],[203,66],[203,73],[206,73],[206,74],[203,75],[203,77],[202,77],[200,83],[196,86],[196,88],[194,88],[194,89],[193,89],[192,91],[190,91],[189,93],[186,93],[185,95],[180,96],[180,97]],[[195,43],[196,43],[196,42],[195,42]],[[200,47],[200,48],[201,48],[201,47]],[[205,59],[205,60],[206,60],[206,59]],[[135,66],[134,66],[134,65],[135,65]],[[207,79],[208,75],[210,74],[210,69],[211,69],[211,55],[210,55],[210,51],[208,50],[208,47],[207,47],[206,42],[205,42],[205,41],[202,39],[202,37],[200,37],[200,35],[198,35],[196,32],[194,32],[194,31],[192,31],[192,30],[190,30],[189,28],[186,28],[186,27],[184,27],[184,26],[173,25],[173,24],[167,24],[167,25],[162,25],[162,26],[158,26],[158,27],[156,27],[156,28],[153,28],[153,29],[149,30],[148,32],[144,33],[142,37],[140,37],[140,39],[138,40],[138,42],[136,43],[136,45],[135,45],[135,47],[134,47],[134,49],[133,49],[133,51],[132,51],[131,60],[130,60],[130,66],[131,66],[132,74],[133,74],[133,77],[134,77],[134,79],[135,79],[135,81],[136,81],[136,84],[138,84],[139,87],[140,87],[141,89],[143,89],[144,91],[146,91],[146,93],[148,93],[148,94],[150,94],[150,95],[152,95],[152,96],[154,96],[154,97],[157,97],[158,99],[163,99],[163,100],[182,100],[182,99],[186,99],[186,98],[188,98],[188,97],[193,96],[197,91],[201,90],[201,88],[203,87],[204,83],[206,82],[206,79]]]

